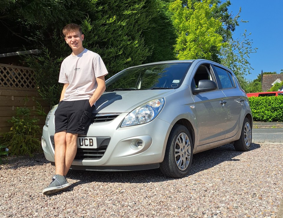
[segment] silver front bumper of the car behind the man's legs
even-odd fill
[[[87,136],[110,137],[109,144],[101,158],[96,160],[75,159],[71,168],[111,171],[158,168],[164,158],[166,142],[172,125],[157,117],[147,124],[121,128],[120,125],[127,114],[120,114],[110,122],[91,124]],[[44,126],[42,133],[44,155],[52,163],[55,160],[50,136],[54,136],[54,131],[54,115],[52,115],[49,127]],[[140,144],[135,146],[137,141],[140,144],[142,142],[142,146]]]

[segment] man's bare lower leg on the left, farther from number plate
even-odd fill
[[[64,175],[65,169],[65,153],[66,153],[66,130],[57,132],[54,135],[55,142],[55,168],[56,174]]]

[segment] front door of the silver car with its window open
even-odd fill
[[[197,86],[198,81],[203,79],[213,80],[217,83],[209,64],[197,67],[191,86]],[[192,94],[192,99],[195,101],[196,122],[198,124],[198,146],[225,139],[227,117],[227,106],[224,104],[226,101],[225,94],[217,89]]]

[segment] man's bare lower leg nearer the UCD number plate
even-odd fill
[[[65,153],[65,166],[64,166],[64,175],[66,176],[72,162],[77,153],[77,138],[78,134],[67,133],[66,134],[66,153]]]

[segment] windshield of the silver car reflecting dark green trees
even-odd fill
[[[106,92],[179,88],[190,65],[160,63],[129,68],[107,80]]]

